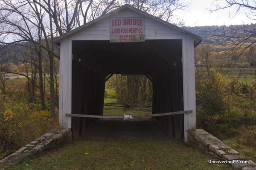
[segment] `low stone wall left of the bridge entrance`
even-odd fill
[[[37,153],[43,152],[44,150],[52,149],[70,142],[70,139],[70,129],[52,129],[26,146],[21,147],[15,153],[0,160],[0,170],[4,169],[3,165],[17,164],[28,157],[33,157]]]

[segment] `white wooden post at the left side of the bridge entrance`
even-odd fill
[[[60,85],[59,85],[59,125],[60,128],[71,128],[72,100],[72,42],[66,38],[60,48]]]

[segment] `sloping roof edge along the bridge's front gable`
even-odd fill
[[[195,46],[195,47],[196,47],[198,44],[200,44],[200,42],[202,41],[202,37],[199,37],[199,36],[196,35],[196,34],[193,34],[193,33],[189,32],[189,31],[186,31],[186,30],[183,29],[183,28],[180,28],[180,27],[178,27],[178,26],[175,26],[175,25],[172,24],[172,23],[168,23],[168,22],[166,22],[166,21],[164,21],[164,20],[161,20],[160,18],[154,17],[153,15],[148,14],[148,13],[146,13],[146,12],[144,12],[144,11],[141,11],[141,10],[139,10],[139,9],[137,9],[137,8],[134,8],[133,6],[131,6],[131,5],[129,5],[129,4],[125,4],[125,5],[121,6],[120,8],[117,8],[117,9],[115,9],[115,10],[113,10],[113,11],[111,11],[111,12],[105,14],[105,15],[102,15],[101,17],[96,18],[95,20],[92,20],[92,21],[90,21],[90,22],[88,22],[88,23],[85,23],[84,25],[82,25],[82,26],[80,26],[80,27],[78,27],[78,28],[73,29],[73,30],[70,31],[70,32],[67,32],[67,33],[65,33],[65,34],[62,34],[62,35],[59,36],[59,37],[56,37],[55,39],[53,39],[53,42],[54,42],[55,44],[59,45],[60,42],[61,42],[61,40],[64,39],[64,38],[66,38],[66,37],[68,37],[69,35],[72,35],[72,34],[78,32],[78,31],[80,31],[80,30],[82,30],[82,29],[84,29],[84,28],[87,28],[88,26],[92,25],[93,23],[96,23],[96,22],[98,22],[99,20],[102,20],[102,19],[104,19],[104,18],[106,18],[106,17],[109,17],[109,16],[111,16],[111,15],[113,15],[113,14],[119,12],[119,11],[122,11],[122,10],[125,9],[125,8],[129,8],[129,9],[131,9],[131,10],[133,10],[133,11],[136,11],[137,13],[140,13],[140,14],[144,15],[145,17],[149,17],[149,18],[151,18],[151,19],[153,19],[153,20],[156,20],[156,21],[158,21],[158,22],[160,22],[160,23],[163,23],[163,24],[166,25],[166,26],[169,26],[170,28],[173,28],[173,29],[175,29],[175,30],[177,30],[177,31],[180,31],[182,34],[186,34],[186,35],[192,37],[192,38],[194,39],[194,46]]]

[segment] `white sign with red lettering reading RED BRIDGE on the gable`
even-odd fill
[[[120,17],[110,20],[110,42],[145,41],[143,17]]]

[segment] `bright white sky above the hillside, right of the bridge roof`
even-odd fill
[[[207,8],[214,9],[212,0],[193,0],[188,10],[178,11],[175,14],[184,21],[185,26],[222,26],[255,23],[245,15],[245,11],[241,11],[234,17],[234,8],[212,13]],[[229,14],[231,15],[230,17]]]

